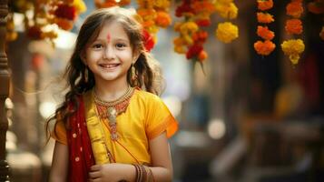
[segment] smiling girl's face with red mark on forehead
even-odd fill
[[[117,22],[103,25],[98,37],[86,47],[83,58],[96,83],[126,82],[127,71],[136,61],[130,39]]]

